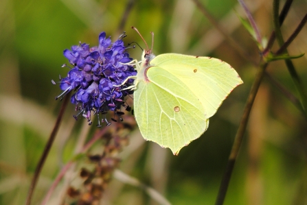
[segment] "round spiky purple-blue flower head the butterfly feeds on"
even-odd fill
[[[91,114],[106,114],[112,110],[115,114],[123,114],[120,111],[124,104],[124,97],[132,94],[133,91],[122,90],[133,84],[133,79],[121,85],[129,76],[136,75],[135,69],[127,65],[132,58],[126,52],[126,47],[120,36],[114,43],[111,38],[106,38],[106,33],[99,36],[98,47],[89,47],[86,43],[74,45],[71,50],[65,49],[64,56],[69,60],[73,68],[68,72],[67,77],[60,79],[60,88],[63,93],[56,97],[62,98],[70,91],[76,91],[71,96],[71,103],[76,104],[79,114],[87,118],[91,124]],[[65,67],[66,65],[64,65]],[[76,119],[78,117],[74,116]],[[121,118],[120,118],[121,119]],[[102,117],[102,121],[106,121]],[[109,125],[108,121],[106,124]],[[100,126],[100,122],[98,123]]]

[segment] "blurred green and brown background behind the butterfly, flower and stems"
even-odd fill
[[[272,31],[272,2],[246,1],[262,36]],[[225,32],[259,62],[258,49],[235,12],[245,16],[235,0],[205,0],[203,5]],[[130,9],[129,9],[130,8]],[[295,1],[282,26],[286,39],[307,10],[307,1]],[[66,76],[62,56],[72,45],[98,44],[100,32],[116,40],[123,31],[126,44],[148,43],[155,32],[154,53],[176,52],[220,58],[238,71],[245,84],[234,90],[210,119],[201,138],[184,147],[179,156],[130,134],[119,167],[124,173],[152,186],[172,204],[214,204],[218,186],[255,77],[253,62],[242,58],[225,42],[193,1],[0,1],[0,204],[24,204],[30,180],[52,131],[61,102],[58,75]],[[307,28],[289,47],[292,55],[306,53]],[[277,46],[274,47],[275,50]],[[130,49],[140,60],[141,50]],[[307,58],[293,60],[307,86]],[[297,95],[284,62],[267,69]],[[201,92],[201,91],[200,91]],[[43,167],[32,204],[39,204],[60,167],[71,157],[80,132],[98,129],[85,120],[75,121],[69,104],[58,136]],[[307,204],[307,123],[302,114],[264,78],[251,113],[245,141],[231,178],[225,204]],[[89,136],[90,137],[90,136]],[[49,204],[55,204],[58,186]],[[115,177],[102,204],[155,204],[139,187]]]

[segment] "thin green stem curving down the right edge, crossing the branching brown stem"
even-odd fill
[[[275,36],[276,36],[276,40],[278,44],[280,45],[280,47],[282,47],[284,45],[284,38],[282,38],[282,32],[280,31],[280,21],[278,17],[279,6],[280,6],[280,1],[274,0],[273,1],[273,24],[274,24]],[[287,49],[284,49],[284,53],[288,54]],[[299,75],[297,74],[297,71],[295,70],[293,62],[288,59],[284,61],[286,62],[286,67],[288,68],[288,71],[295,84],[295,88],[297,89],[299,93],[300,101],[301,101],[302,107],[304,108],[304,112],[306,112],[307,96],[306,96],[306,92],[304,91],[304,86],[302,85],[302,81],[299,79]]]

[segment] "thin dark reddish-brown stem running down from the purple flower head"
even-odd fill
[[[52,147],[52,144],[54,143],[54,139],[56,138],[56,133],[58,132],[58,128],[60,128],[60,122],[62,121],[62,116],[63,116],[63,114],[65,112],[65,108],[68,104],[69,97],[70,97],[70,95],[67,94],[64,98],[64,101],[62,103],[62,107],[60,108],[60,112],[58,113],[58,118],[56,119],[56,123],[54,124],[54,129],[52,130],[52,133],[49,136],[47,145],[45,146],[45,149],[44,149],[44,152],[41,156],[41,159],[39,160],[38,165],[35,169],[34,176],[33,176],[33,179],[32,179],[31,185],[30,185],[29,193],[27,193],[27,200],[25,202],[25,205],[31,204],[32,196],[33,196],[34,189],[35,189],[35,186],[36,186],[37,181],[38,181],[38,177],[41,173],[41,170],[43,168],[45,160],[46,160],[46,158],[49,154],[49,151]]]

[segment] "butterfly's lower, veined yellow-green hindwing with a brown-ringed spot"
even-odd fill
[[[146,140],[178,154],[207,130],[209,120],[201,101],[177,76],[161,67],[150,67],[147,74],[149,82],[139,81],[134,92],[139,130]]]

